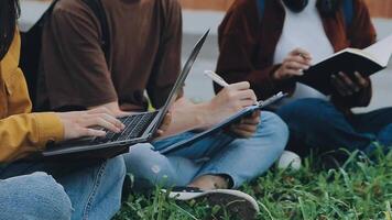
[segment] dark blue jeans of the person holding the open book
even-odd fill
[[[371,153],[374,142],[385,151],[392,146],[392,108],[345,116],[328,101],[300,99],[281,107],[277,114],[288,125],[291,150],[298,153],[312,147],[320,152],[344,147]]]

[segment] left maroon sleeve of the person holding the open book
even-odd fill
[[[238,6],[228,12],[219,26],[220,55],[217,73],[229,84],[249,81],[260,99],[277,91],[293,91],[295,87],[293,81],[273,78],[273,74],[281,65],[262,67],[260,65],[262,61],[254,61],[254,54],[259,53],[259,29],[255,9]]]

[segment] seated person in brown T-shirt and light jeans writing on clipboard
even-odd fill
[[[110,53],[100,45],[100,25],[83,1],[59,1],[45,25],[39,103],[113,112],[148,109],[148,92],[160,108],[181,70],[182,12],[175,0],[102,0],[110,31]],[[137,188],[192,186],[203,190],[238,188],[266,172],[283,152],[286,125],[271,112],[257,112],[193,146],[162,155],[157,151],[195,135],[253,105],[248,82],[229,86],[211,101],[194,105],[185,97],[171,110],[166,139],[132,146],[124,155]],[[259,124],[260,122],[260,124]],[[170,136],[170,138],[168,138]]]

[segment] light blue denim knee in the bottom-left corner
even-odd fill
[[[0,180],[0,220],[69,220],[72,205],[62,185],[45,173]]]

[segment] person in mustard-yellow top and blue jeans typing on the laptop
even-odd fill
[[[122,157],[89,164],[19,161],[50,141],[105,135],[91,127],[123,129],[106,109],[31,113],[18,67],[19,11],[18,0],[0,1],[0,219],[110,219],[120,208]]]

